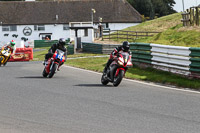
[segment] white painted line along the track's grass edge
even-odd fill
[[[68,67],[68,68],[72,68],[72,69],[77,69],[77,70],[81,70],[81,71],[86,71],[86,72],[90,72],[90,73],[95,73],[95,74],[99,74],[102,75],[102,73],[99,72],[94,72],[91,70],[86,70],[86,69],[82,69],[82,68],[77,68],[77,67],[72,67],[72,66],[67,66],[67,65],[63,65],[64,67]],[[200,94],[199,91],[196,90],[189,90],[188,88],[174,88],[174,87],[168,87],[168,86],[162,86],[162,85],[157,85],[155,83],[146,83],[143,81],[137,81],[137,80],[131,80],[131,79],[124,79],[126,81],[130,81],[130,82],[135,82],[135,83],[139,83],[139,84],[144,84],[144,85],[151,85],[154,87],[160,87],[160,88],[165,88],[165,89],[169,89],[169,90],[176,90],[176,91],[183,91],[183,92],[190,92],[190,93],[197,93]]]

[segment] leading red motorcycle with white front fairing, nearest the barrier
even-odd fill
[[[107,71],[103,72],[101,83],[103,85],[107,85],[111,82],[114,86],[118,86],[121,83],[126,71],[131,66],[131,55],[127,52],[119,52],[118,56],[114,58],[114,61],[107,68]]]

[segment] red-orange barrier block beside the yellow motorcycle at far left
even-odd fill
[[[9,61],[30,61],[33,60],[33,48],[17,48],[15,55]]]

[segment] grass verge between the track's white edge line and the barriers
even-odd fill
[[[79,67],[96,72],[102,72],[108,58],[84,58],[68,60],[67,65]],[[184,88],[200,89],[200,82],[197,79],[188,79],[170,72],[155,70],[152,68],[140,69],[136,66],[130,68],[126,73],[126,78],[151,81],[165,85],[174,85]]]

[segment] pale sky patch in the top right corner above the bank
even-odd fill
[[[184,1],[184,8],[189,9],[192,6],[197,6],[200,4],[200,0],[174,0],[176,2],[176,4],[174,5],[174,10],[176,10],[177,12],[181,12],[183,11],[183,3],[182,1]]]

